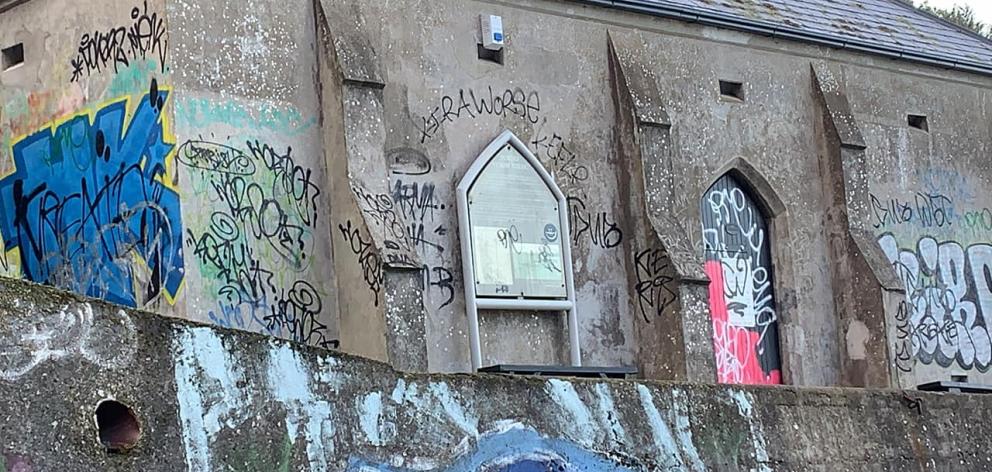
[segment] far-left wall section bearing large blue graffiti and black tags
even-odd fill
[[[64,41],[45,45],[5,15],[6,42],[29,54],[0,92],[3,271],[130,307],[184,312],[181,191],[161,4],[69,6]],[[49,3],[49,4],[46,4]],[[56,9],[57,10],[57,9]],[[6,44],[5,42],[5,44]],[[43,63],[41,51],[52,54]],[[45,69],[41,83],[25,80]],[[25,106],[26,105],[26,106]],[[178,305],[178,308],[177,308]]]

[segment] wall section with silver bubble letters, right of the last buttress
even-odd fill
[[[848,80],[865,80],[861,72]],[[992,169],[984,160],[988,130],[973,126],[987,120],[984,107],[960,109],[953,117],[949,96],[987,102],[964,85],[937,95],[932,82],[909,85],[912,99],[892,99],[852,91],[854,100],[891,107],[897,113],[932,110],[933,127],[891,124],[856,105],[865,122],[867,180],[856,202],[867,229],[891,264],[905,301],[887,319],[890,357],[900,384],[992,379],[992,206],[984,188]]]

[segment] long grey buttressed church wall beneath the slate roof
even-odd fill
[[[961,251],[942,252],[953,283],[937,265],[893,270],[895,248],[909,247],[908,236],[878,197],[915,195],[910,175],[968,167],[967,178],[931,186],[974,196],[971,226],[980,225],[977,189],[987,166],[979,161],[990,137],[976,123],[985,122],[987,77],[568,2],[324,0],[320,10],[329,45],[322,58],[330,63],[322,83],[343,90],[345,122],[354,122],[341,133],[347,156],[329,159],[349,166],[355,188],[345,200],[362,207],[369,247],[382,248],[387,261],[404,261],[412,249],[412,265],[427,269],[430,370],[463,370],[468,362],[454,187],[509,129],[572,202],[588,364],[633,364],[649,378],[743,378],[761,354],[740,346],[776,335],[781,359],[759,380],[913,386],[956,374],[987,378],[987,290],[981,270],[966,264],[980,262],[982,246],[965,251],[980,244],[980,231],[969,228]],[[404,21],[375,21],[394,11]],[[477,57],[480,14],[504,19],[502,64]],[[740,84],[740,96],[721,94],[721,82]],[[360,92],[370,84],[374,93]],[[968,113],[951,113],[962,108]],[[927,116],[927,131],[911,126],[909,115]],[[370,138],[369,129],[381,131]],[[701,211],[716,208],[703,196],[726,175],[768,221],[755,238],[770,241],[771,276],[744,261],[703,270],[710,242]],[[925,213],[917,223],[968,227],[965,210],[933,200],[916,210]],[[962,221],[953,223],[955,215]],[[336,259],[339,273],[354,264]],[[710,286],[714,274],[718,286]],[[930,288],[905,293],[907,280]],[[751,285],[742,291],[734,281]],[[378,284],[349,277],[341,286],[375,291]],[[736,309],[765,318],[747,329],[719,319],[721,293],[751,296]],[[765,295],[772,302],[759,304]],[[559,317],[489,312],[482,319],[484,364],[564,359]]]

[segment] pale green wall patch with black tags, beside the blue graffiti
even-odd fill
[[[303,147],[302,155],[294,150],[300,138],[270,134],[313,123],[278,108],[232,102],[220,110],[212,100],[177,106],[184,132],[215,131],[196,135],[178,151],[188,188],[200,196],[186,203],[184,241],[202,290],[192,303],[206,313],[204,321],[331,347],[336,336],[325,315],[336,307],[334,287],[326,282],[331,279],[322,272],[329,257],[327,207],[317,185],[323,173],[310,167],[312,149]],[[244,124],[252,111],[272,114],[274,121]],[[223,136],[230,138],[215,137],[228,128]],[[273,144],[252,139],[259,135]]]

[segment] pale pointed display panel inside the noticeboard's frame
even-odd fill
[[[512,145],[468,191],[476,296],[565,298],[558,200]]]

